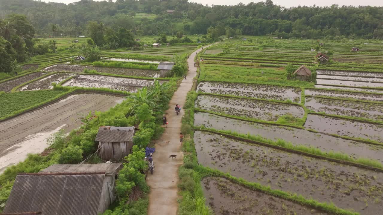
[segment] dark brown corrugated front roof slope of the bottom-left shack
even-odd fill
[[[97,215],[105,174],[16,176],[4,213]]]

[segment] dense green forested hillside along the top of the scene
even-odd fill
[[[175,11],[169,14],[167,10]],[[96,21],[115,31],[126,28],[136,35],[172,35],[178,31],[206,34],[213,27],[211,32],[226,36],[383,38],[383,7],[369,6],[284,8],[271,0],[235,6],[208,6],[187,0],[80,0],[69,5],[0,0],[0,18],[10,14],[26,15],[39,36],[87,34],[88,22]]]

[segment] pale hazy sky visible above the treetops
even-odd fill
[[[79,0],[42,0],[44,2],[63,2],[63,3],[72,3],[72,2],[78,2]],[[95,0],[95,1],[102,1],[102,0]],[[201,4],[208,4],[208,5],[237,5],[239,2],[242,2],[244,4],[247,4],[249,2],[264,2],[265,0],[189,0],[189,2],[198,2]],[[115,2],[115,0],[113,0]],[[274,4],[281,5],[284,7],[296,7],[298,5],[306,5],[310,6],[314,3],[318,6],[330,6],[332,4],[338,4],[338,5],[371,5],[371,6],[383,6],[383,1],[381,0],[321,0],[317,2],[308,1],[308,0],[273,0]]]

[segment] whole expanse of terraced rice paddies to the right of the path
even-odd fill
[[[333,53],[326,64],[312,51],[319,44]],[[216,215],[380,213],[382,41],[246,37],[199,57],[190,122]],[[288,65],[316,78],[287,78]]]

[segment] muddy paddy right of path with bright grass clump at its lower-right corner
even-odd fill
[[[291,104],[207,95],[198,96],[195,106],[205,110],[267,121],[276,121],[278,117],[285,114],[299,118],[304,114],[303,108]]]

